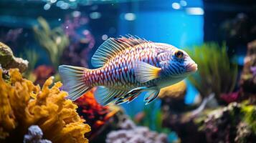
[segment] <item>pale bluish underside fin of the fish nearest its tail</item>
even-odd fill
[[[126,92],[125,90],[99,86],[95,91],[95,99],[99,104],[105,106],[123,94],[126,94]]]

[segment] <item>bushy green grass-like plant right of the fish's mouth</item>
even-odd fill
[[[214,93],[219,99],[220,94],[233,91],[237,80],[237,64],[229,60],[225,44],[205,43],[186,51],[198,64],[197,73],[190,76],[189,80],[202,97]]]

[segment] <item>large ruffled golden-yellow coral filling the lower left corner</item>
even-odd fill
[[[49,89],[51,77],[40,90],[18,70],[9,74],[10,84],[0,77],[0,142],[21,142],[32,124],[39,125],[52,142],[88,142],[84,134],[90,126],[80,119],[77,106],[65,99],[67,92],[60,91],[60,82]]]

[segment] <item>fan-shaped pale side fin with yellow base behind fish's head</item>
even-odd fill
[[[136,80],[141,83],[148,82],[159,77],[161,68],[152,66],[143,61],[136,61],[133,64]]]

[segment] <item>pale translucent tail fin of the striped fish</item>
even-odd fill
[[[75,101],[82,94],[92,89],[92,87],[85,85],[84,74],[86,70],[88,69],[78,66],[59,66],[63,89],[69,94],[67,99]]]

